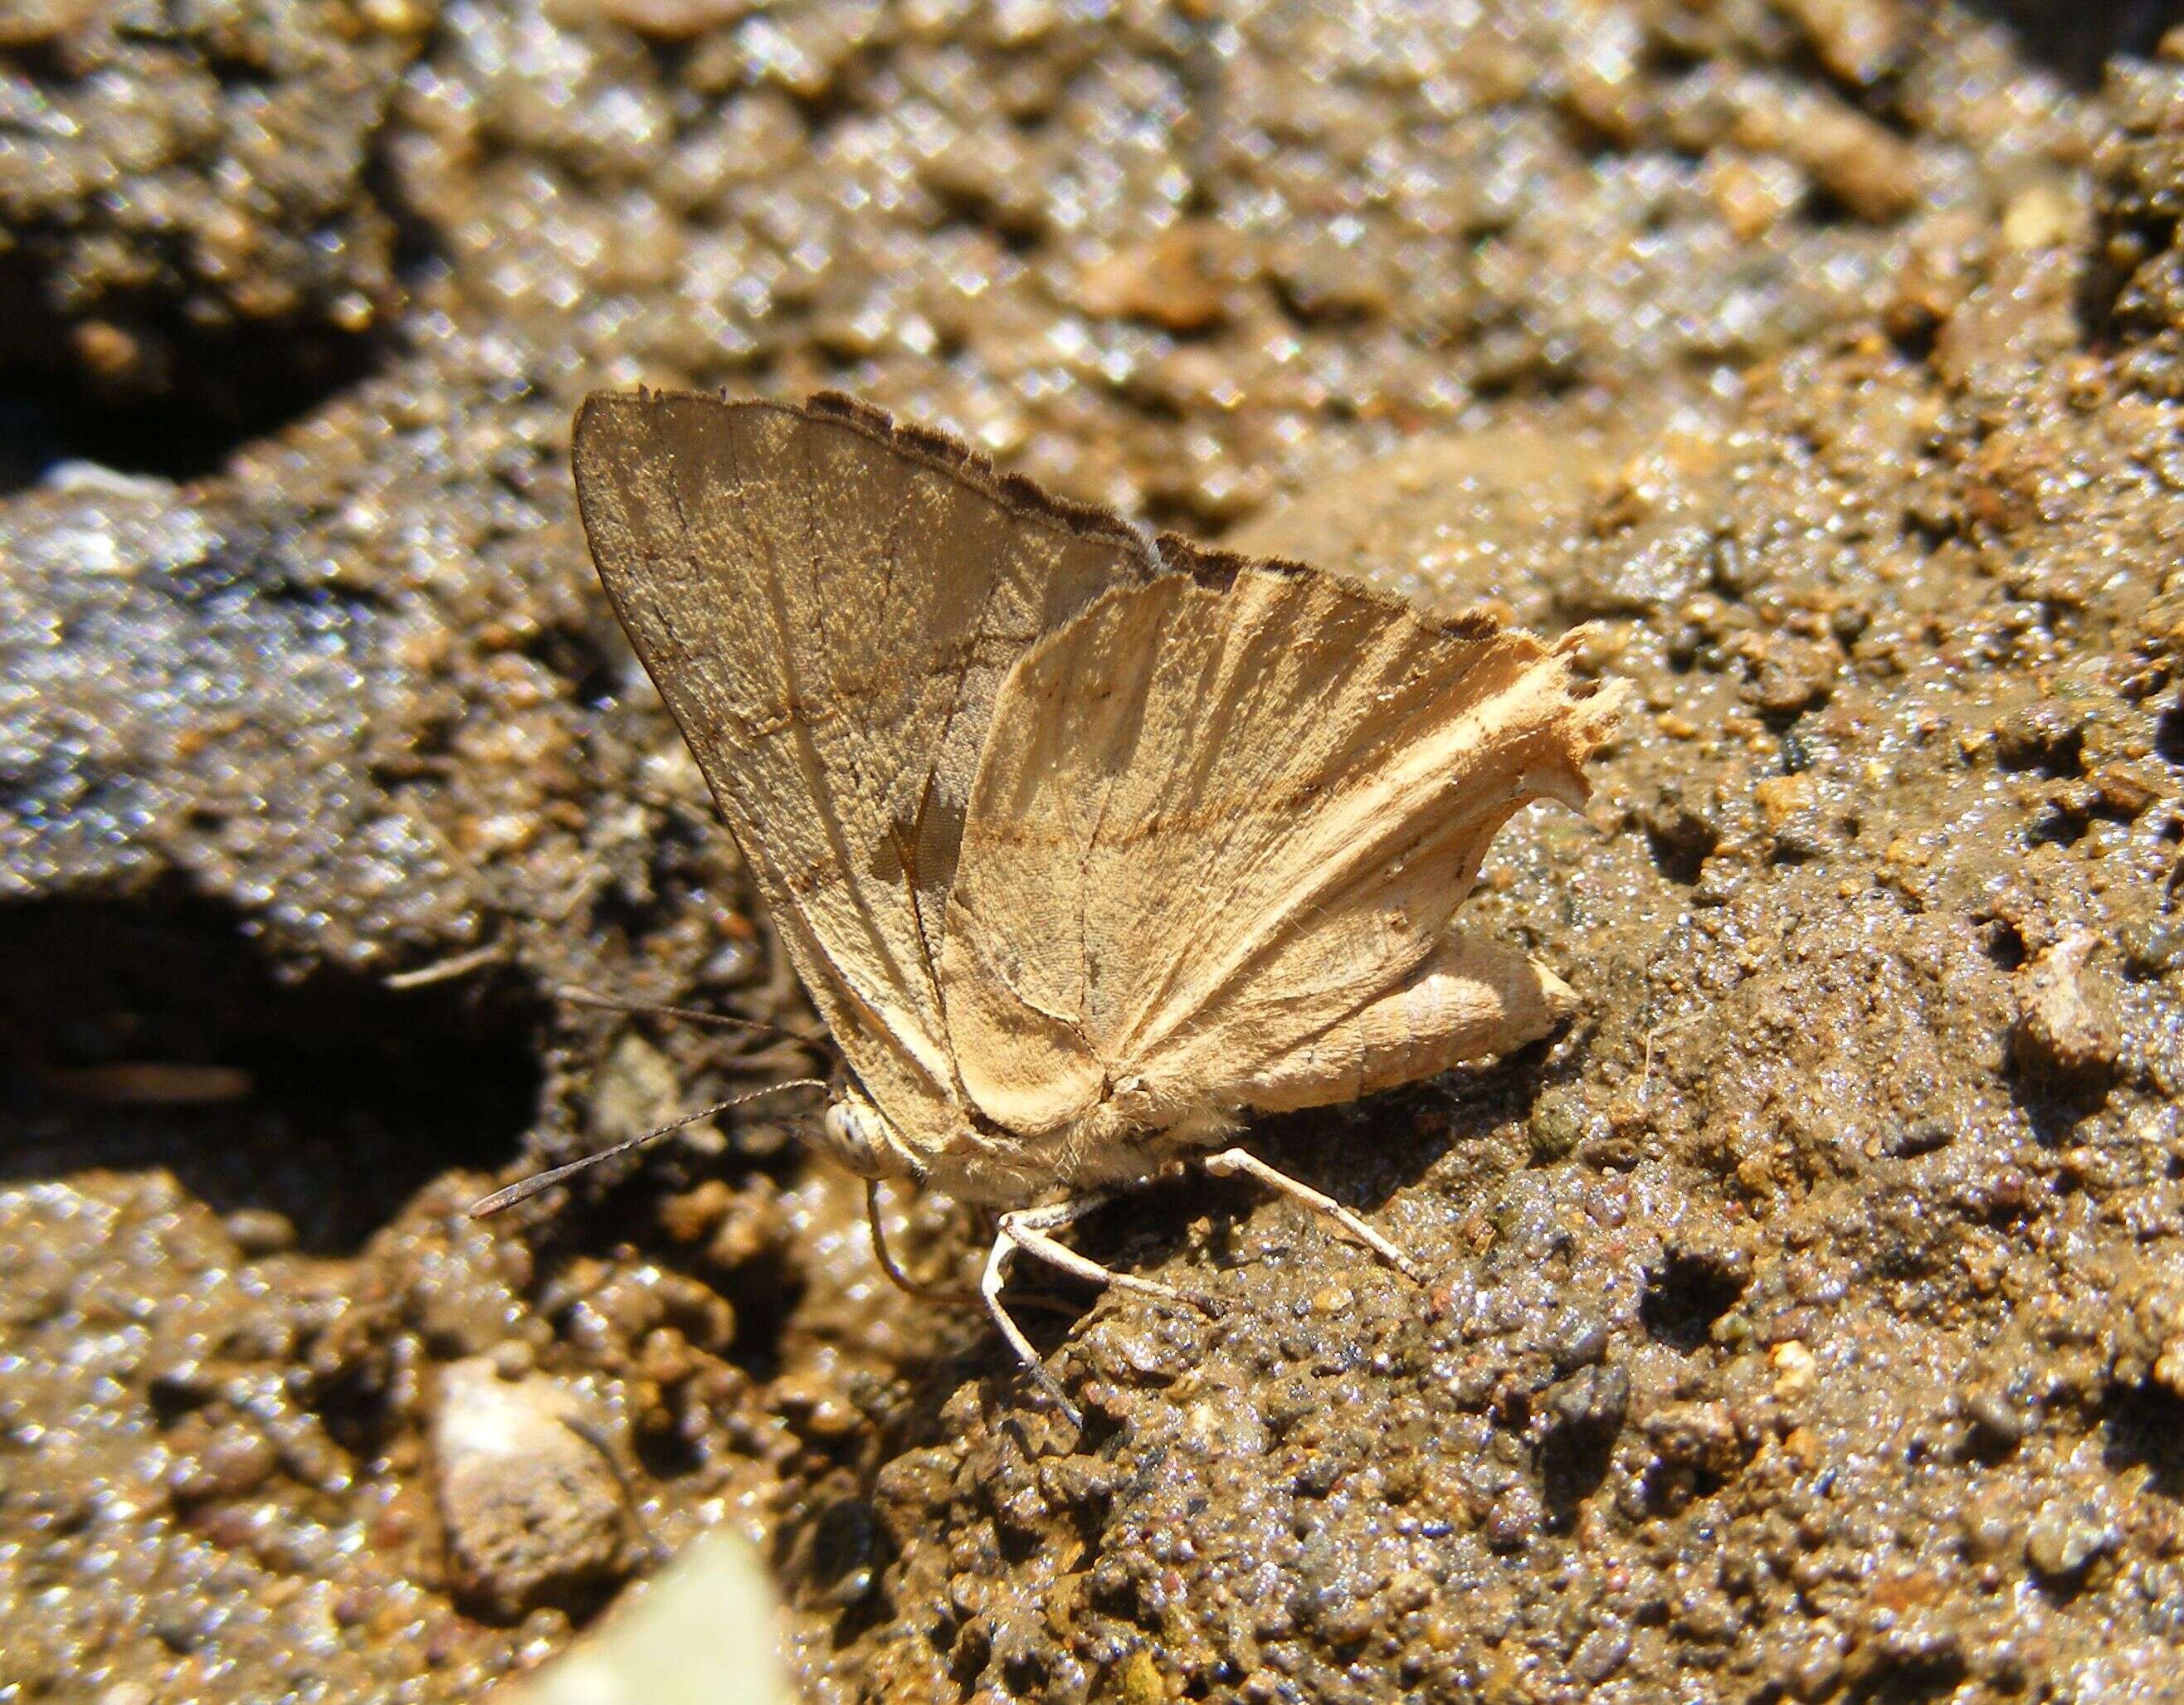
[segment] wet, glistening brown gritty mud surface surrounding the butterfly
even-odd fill
[[[0,1698],[474,1698],[714,1524],[821,1701],[2177,1696],[2149,11],[17,9]],[[1149,1188],[1219,1310],[1026,1308],[1079,1432],[795,1102],[463,1216],[826,1068],[553,1000],[799,1017],[574,524],[638,380],[1597,624],[1470,904],[1575,1024],[1251,1137],[1428,1286]]]

